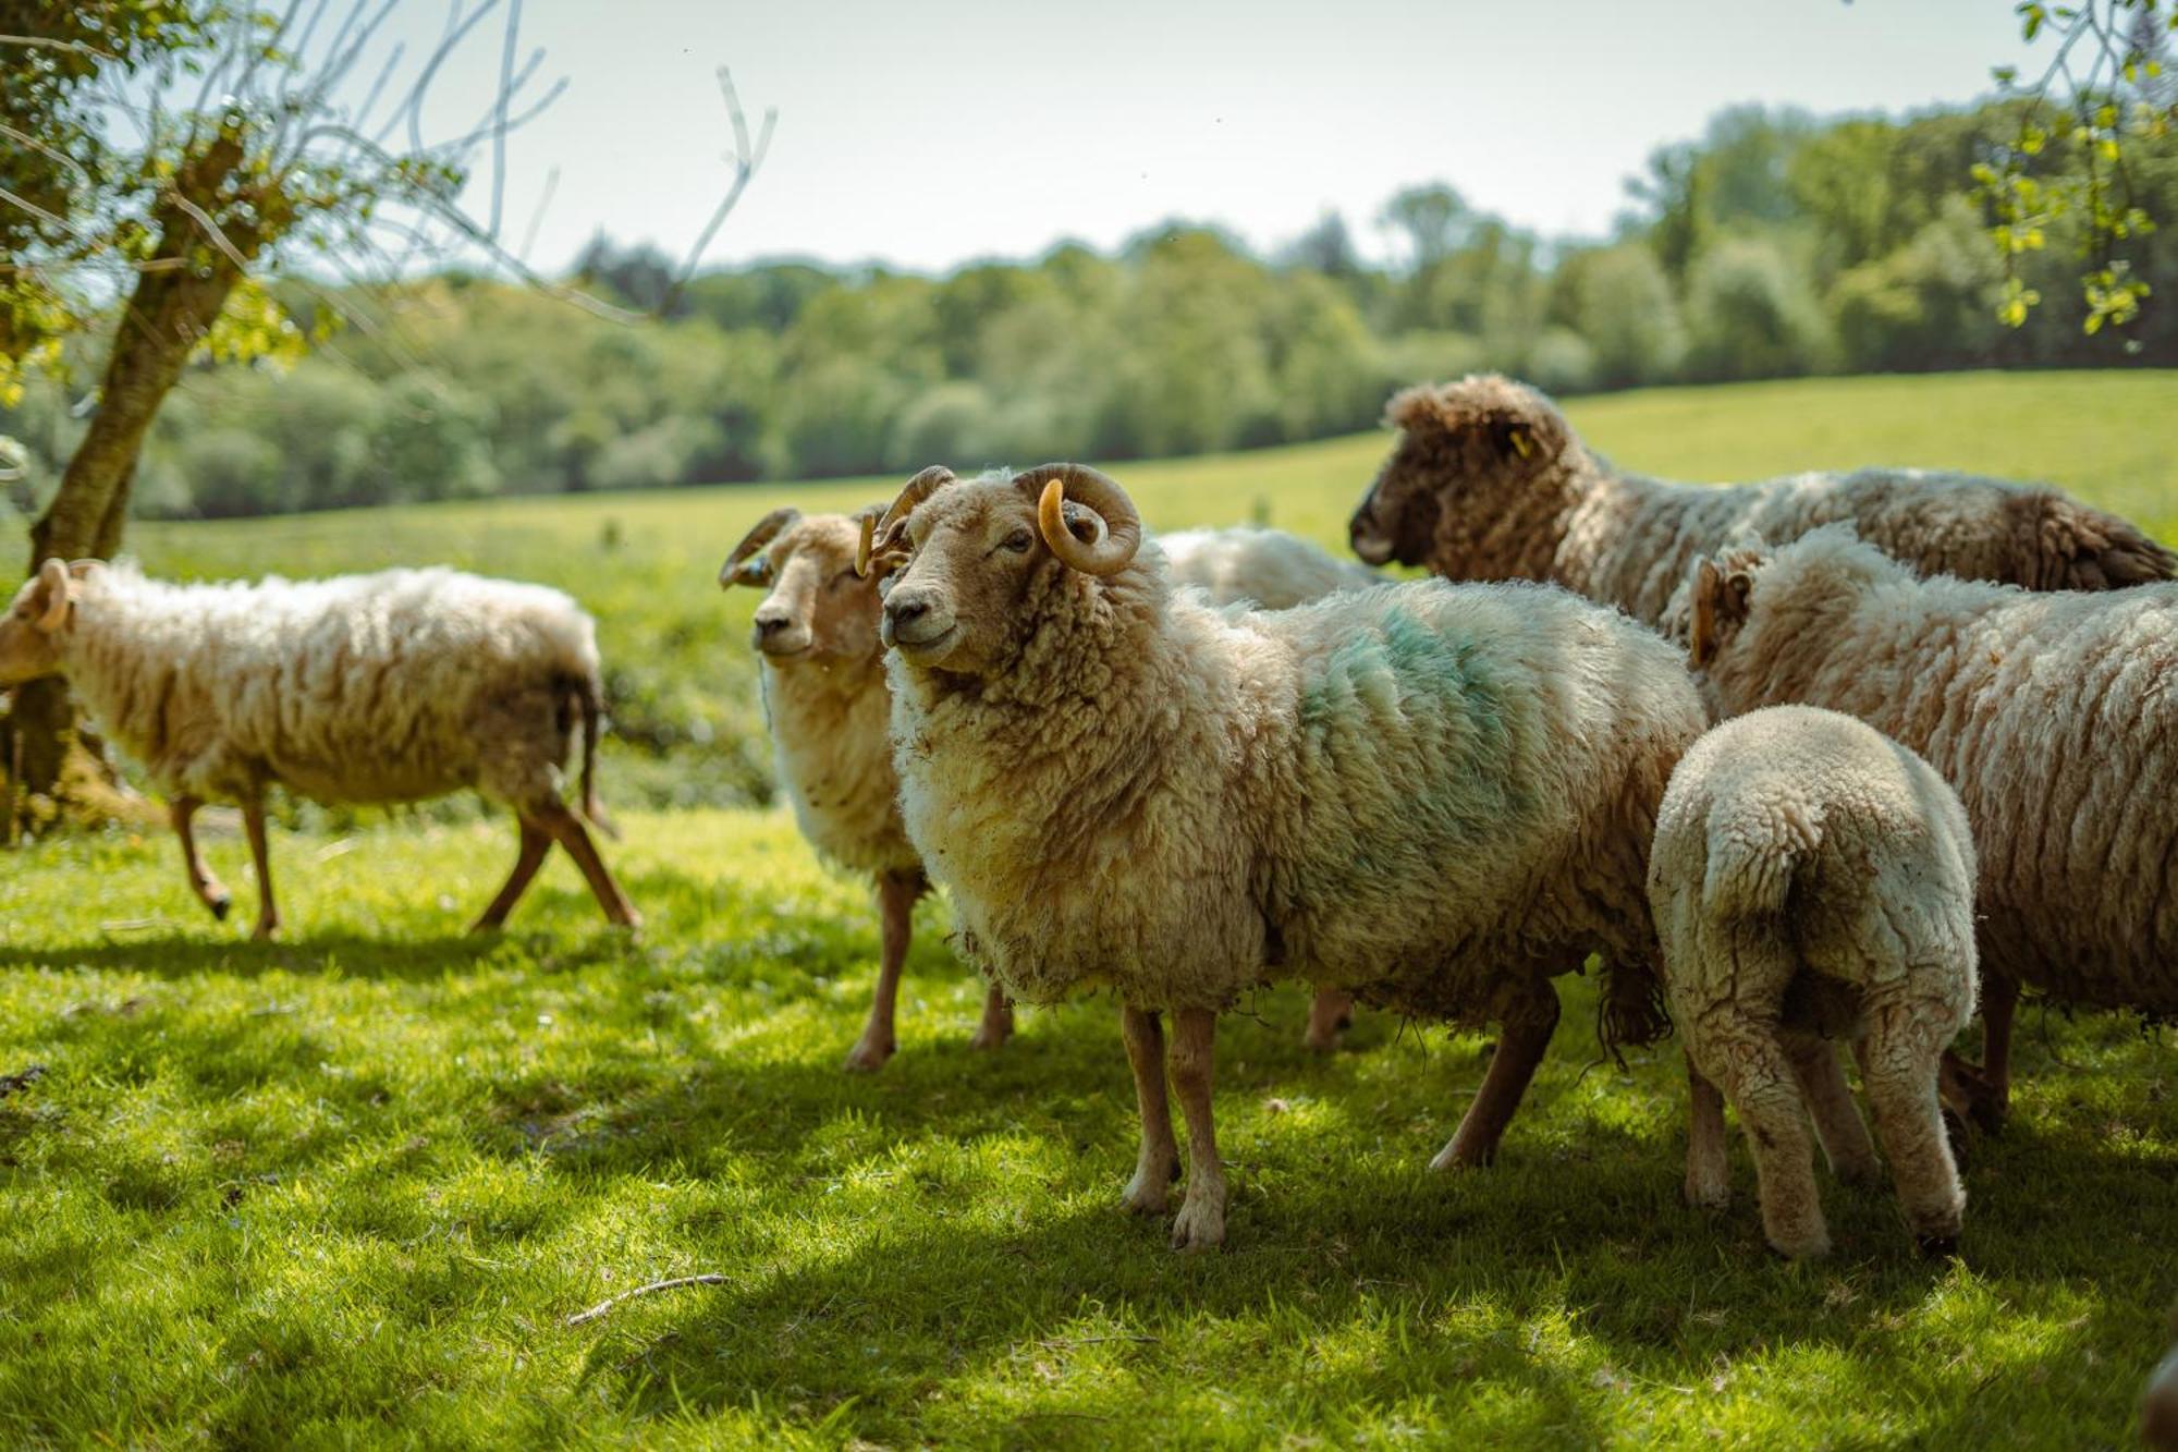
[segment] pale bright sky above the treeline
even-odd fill
[[[427,55],[444,20],[401,0],[381,44]],[[501,46],[494,13],[451,52],[427,137],[486,111]],[[1383,201],[1435,179],[1603,235],[1644,157],[1725,105],[1895,113],[2026,55],[2006,0],[527,0],[538,46],[566,92],[507,142],[501,231],[521,246],[538,218],[544,270],[599,231],[690,249],[727,183],[721,63],[778,131],[706,266],[943,270],[1174,216],[1272,249],[1326,209],[1385,255]],[[466,203],[488,214],[488,168]]]

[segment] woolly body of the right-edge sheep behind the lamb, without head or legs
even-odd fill
[[[2178,1014],[2178,586],[1886,586],[1825,650],[1762,691],[1858,715],[1958,789],[1984,966]]]

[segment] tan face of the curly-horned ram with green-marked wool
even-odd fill
[[[906,521],[906,567],[884,595],[884,643],[906,661],[974,676],[1021,630],[1037,571],[1056,565],[1037,501],[1011,480],[950,484]]]

